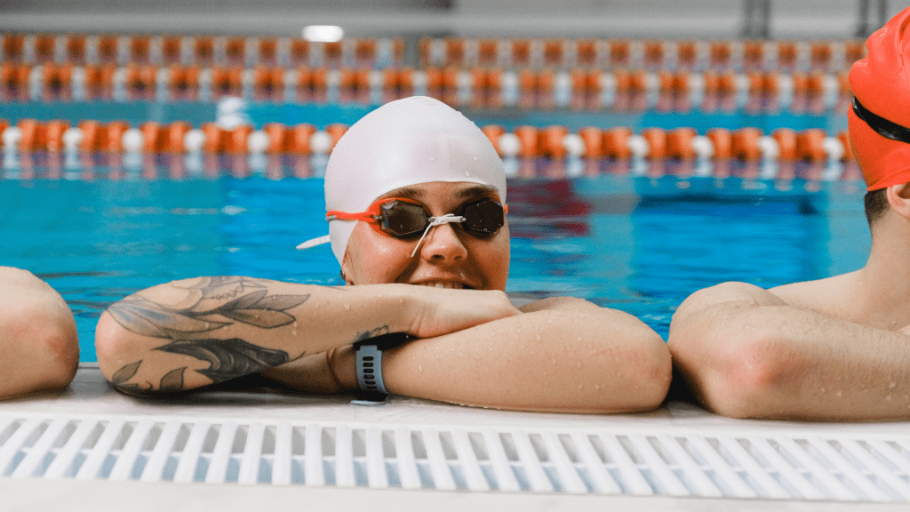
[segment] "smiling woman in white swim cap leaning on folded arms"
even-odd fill
[[[108,381],[147,395],[261,374],[305,392],[574,413],[662,403],[670,354],[638,319],[571,297],[511,304],[501,160],[459,112],[428,97],[374,110],[332,151],[325,192],[348,286],[205,277],[137,292],[97,326]]]

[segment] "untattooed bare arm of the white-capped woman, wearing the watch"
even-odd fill
[[[524,411],[616,413],[662,403],[670,354],[638,319],[571,298],[521,310],[385,351],[386,386],[395,394]],[[334,372],[327,359],[314,355],[266,375],[305,390],[356,389],[353,351],[333,355]]]

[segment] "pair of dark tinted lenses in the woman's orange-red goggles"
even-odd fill
[[[455,214],[465,218],[461,229],[476,237],[490,237],[505,224],[505,210],[490,198],[467,203]],[[378,217],[379,230],[399,238],[417,236],[430,224],[430,216],[420,204],[403,200],[382,203]]]

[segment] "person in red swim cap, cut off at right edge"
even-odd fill
[[[675,370],[733,417],[910,417],[910,8],[850,71],[850,142],[867,185],[863,269],[763,290],[726,282],[672,318]]]

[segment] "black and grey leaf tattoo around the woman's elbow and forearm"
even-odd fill
[[[281,350],[239,338],[217,339],[207,335],[199,339],[198,336],[235,323],[260,329],[294,323],[297,319],[288,310],[307,302],[309,295],[268,295],[264,280],[232,276],[204,278],[188,291],[196,295],[196,301],[186,308],[176,309],[132,296],[112,304],[106,311],[128,331],[171,340],[155,350],[190,355],[208,362],[208,368],[196,371],[214,383],[288,363],[288,353]],[[140,364],[142,361],[117,370],[111,377],[111,384],[125,393],[151,391],[151,383],[145,386],[128,383]],[[183,390],[186,369],[168,372],[158,384],[158,391]]]

